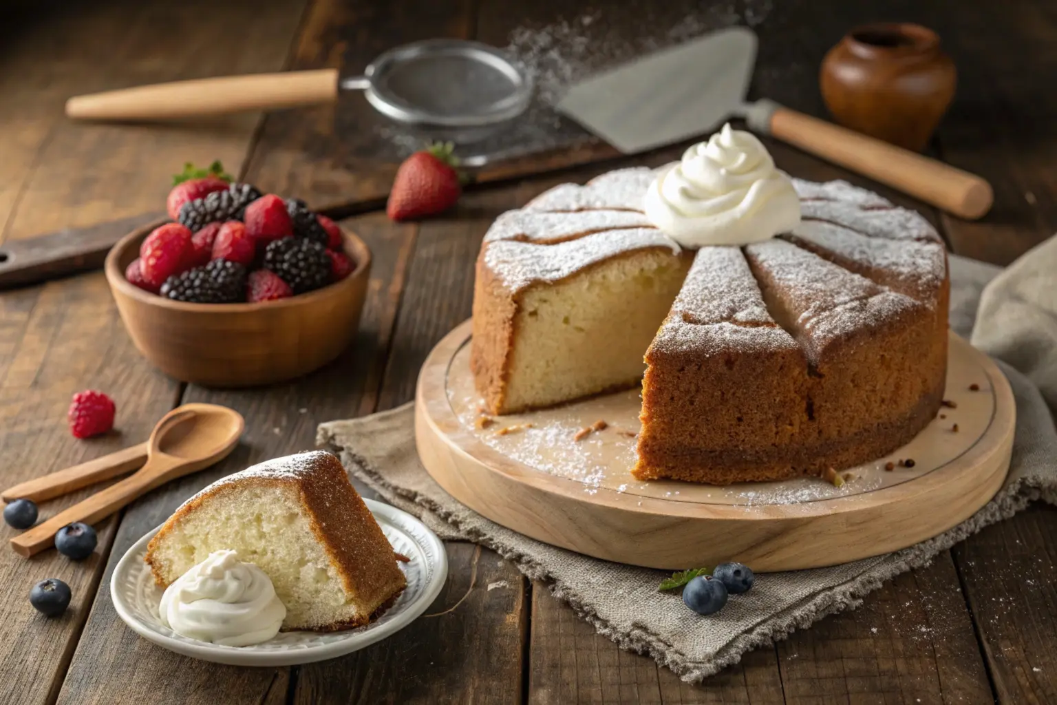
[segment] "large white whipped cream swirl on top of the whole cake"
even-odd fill
[[[684,247],[747,245],[796,227],[800,199],[755,135],[724,125],[662,169],[646,217]]]

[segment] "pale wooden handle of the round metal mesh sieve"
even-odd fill
[[[77,95],[68,117],[165,120],[245,110],[275,110],[337,99],[337,69],[219,76]]]

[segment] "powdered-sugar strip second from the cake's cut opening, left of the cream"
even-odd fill
[[[578,210],[542,212],[508,210],[496,219],[484,236],[485,242],[521,240],[536,244],[556,244],[592,233],[628,227],[653,227],[645,214],[632,210]]]

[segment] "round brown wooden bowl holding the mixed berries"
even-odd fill
[[[342,229],[352,274],[323,289],[261,303],[186,303],[125,279],[147,235],[137,228],[107,255],[106,273],[132,342],[159,369],[208,387],[251,387],[292,379],[333,360],[359,326],[371,253]]]

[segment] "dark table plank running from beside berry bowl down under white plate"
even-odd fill
[[[208,402],[237,409],[246,420],[242,442],[222,463],[181,478],[133,504],[122,521],[104,576],[109,579],[125,551],[159,525],[209,482],[271,458],[315,447],[320,422],[354,415],[377,394],[373,370],[389,345],[395,301],[387,295],[404,268],[409,228],[386,225],[378,216],[346,223],[371,248],[369,296],[356,341],[337,360],[300,381],[246,390],[189,386],[184,402]],[[372,382],[373,381],[373,382]],[[284,702],[289,668],[220,666],[177,655],[135,635],[114,612],[107,590],[96,596],[91,617],[70,666],[62,703],[257,703]],[[180,684],[160,691],[160,684]],[[278,694],[276,694],[278,692]]]

